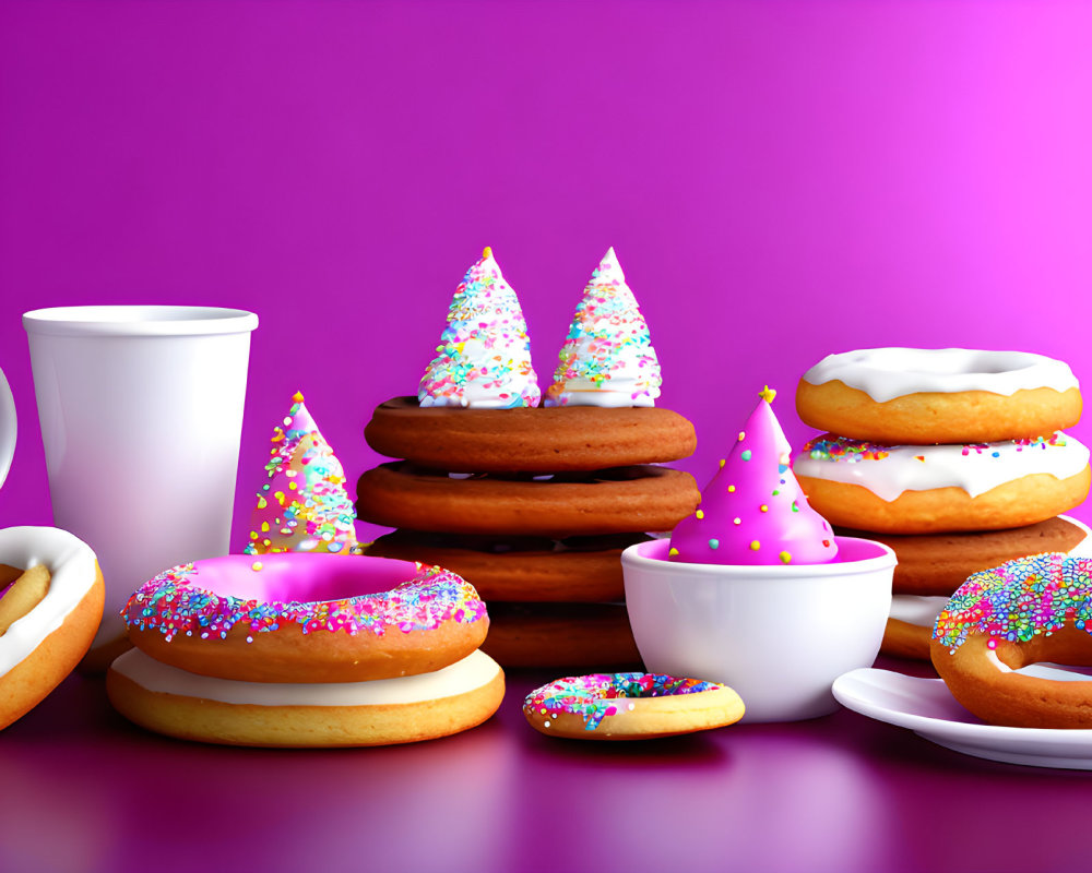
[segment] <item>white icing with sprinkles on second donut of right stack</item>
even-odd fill
[[[888,453],[882,458],[860,454],[814,457],[802,451],[793,461],[793,470],[812,479],[859,485],[888,502],[904,491],[934,488],[962,488],[975,498],[1033,474],[1045,473],[1058,479],[1077,476],[1088,466],[1089,450],[1068,434],[1057,436],[1056,445],[1009,440],[977,446],[875,446]]]

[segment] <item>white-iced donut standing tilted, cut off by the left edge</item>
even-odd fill
[[[0,530],[0,729],[79,663],[103,618],[95,553],[67,530]]]

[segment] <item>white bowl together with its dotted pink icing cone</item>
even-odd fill
[[[834,711],[834,680],[876,658],[895,559],[808,505],[760,396],[699,509],[621,564],[649,672],[729,685],[745,721],[792,721]]]

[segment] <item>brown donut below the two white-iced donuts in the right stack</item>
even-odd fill
[[[901,536],[835,527],[834,533],[840,537],[874,539],[894,550],[899,559],[894,594],[945,597],[972,573],[1025,554],[1069,552],[1085,536],[1083,527],[1065,517],[1009,530]],[[928,634],[923,638],[922,649],[928,657]]]

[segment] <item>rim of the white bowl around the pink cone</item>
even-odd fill
[[[875,547],[873,555],[863,559],[842,561],[835,559],[828,564],[691,564],[686,561],[667,561],[667,549],[669,541],[666,539],[653,539],[638,542],[628,547],[621,553],[624,566],[642,567],[653,571],[665,571],[674,573],[686,573],[696,576],[711,576],[726,578],[736,576],[740,578],[757,579],[791,579],[791,578],[815,578],[822,576],[848,576],[858,573],[871,573],[877,570],[893,567],[898,561],[894,550],[882,542],[863,537],[834,537],[839,545],[839,550],[843,547],[853,547],[857,543],[867,543]],[[651,552],[662,552],[663,557],[654,557]]]

